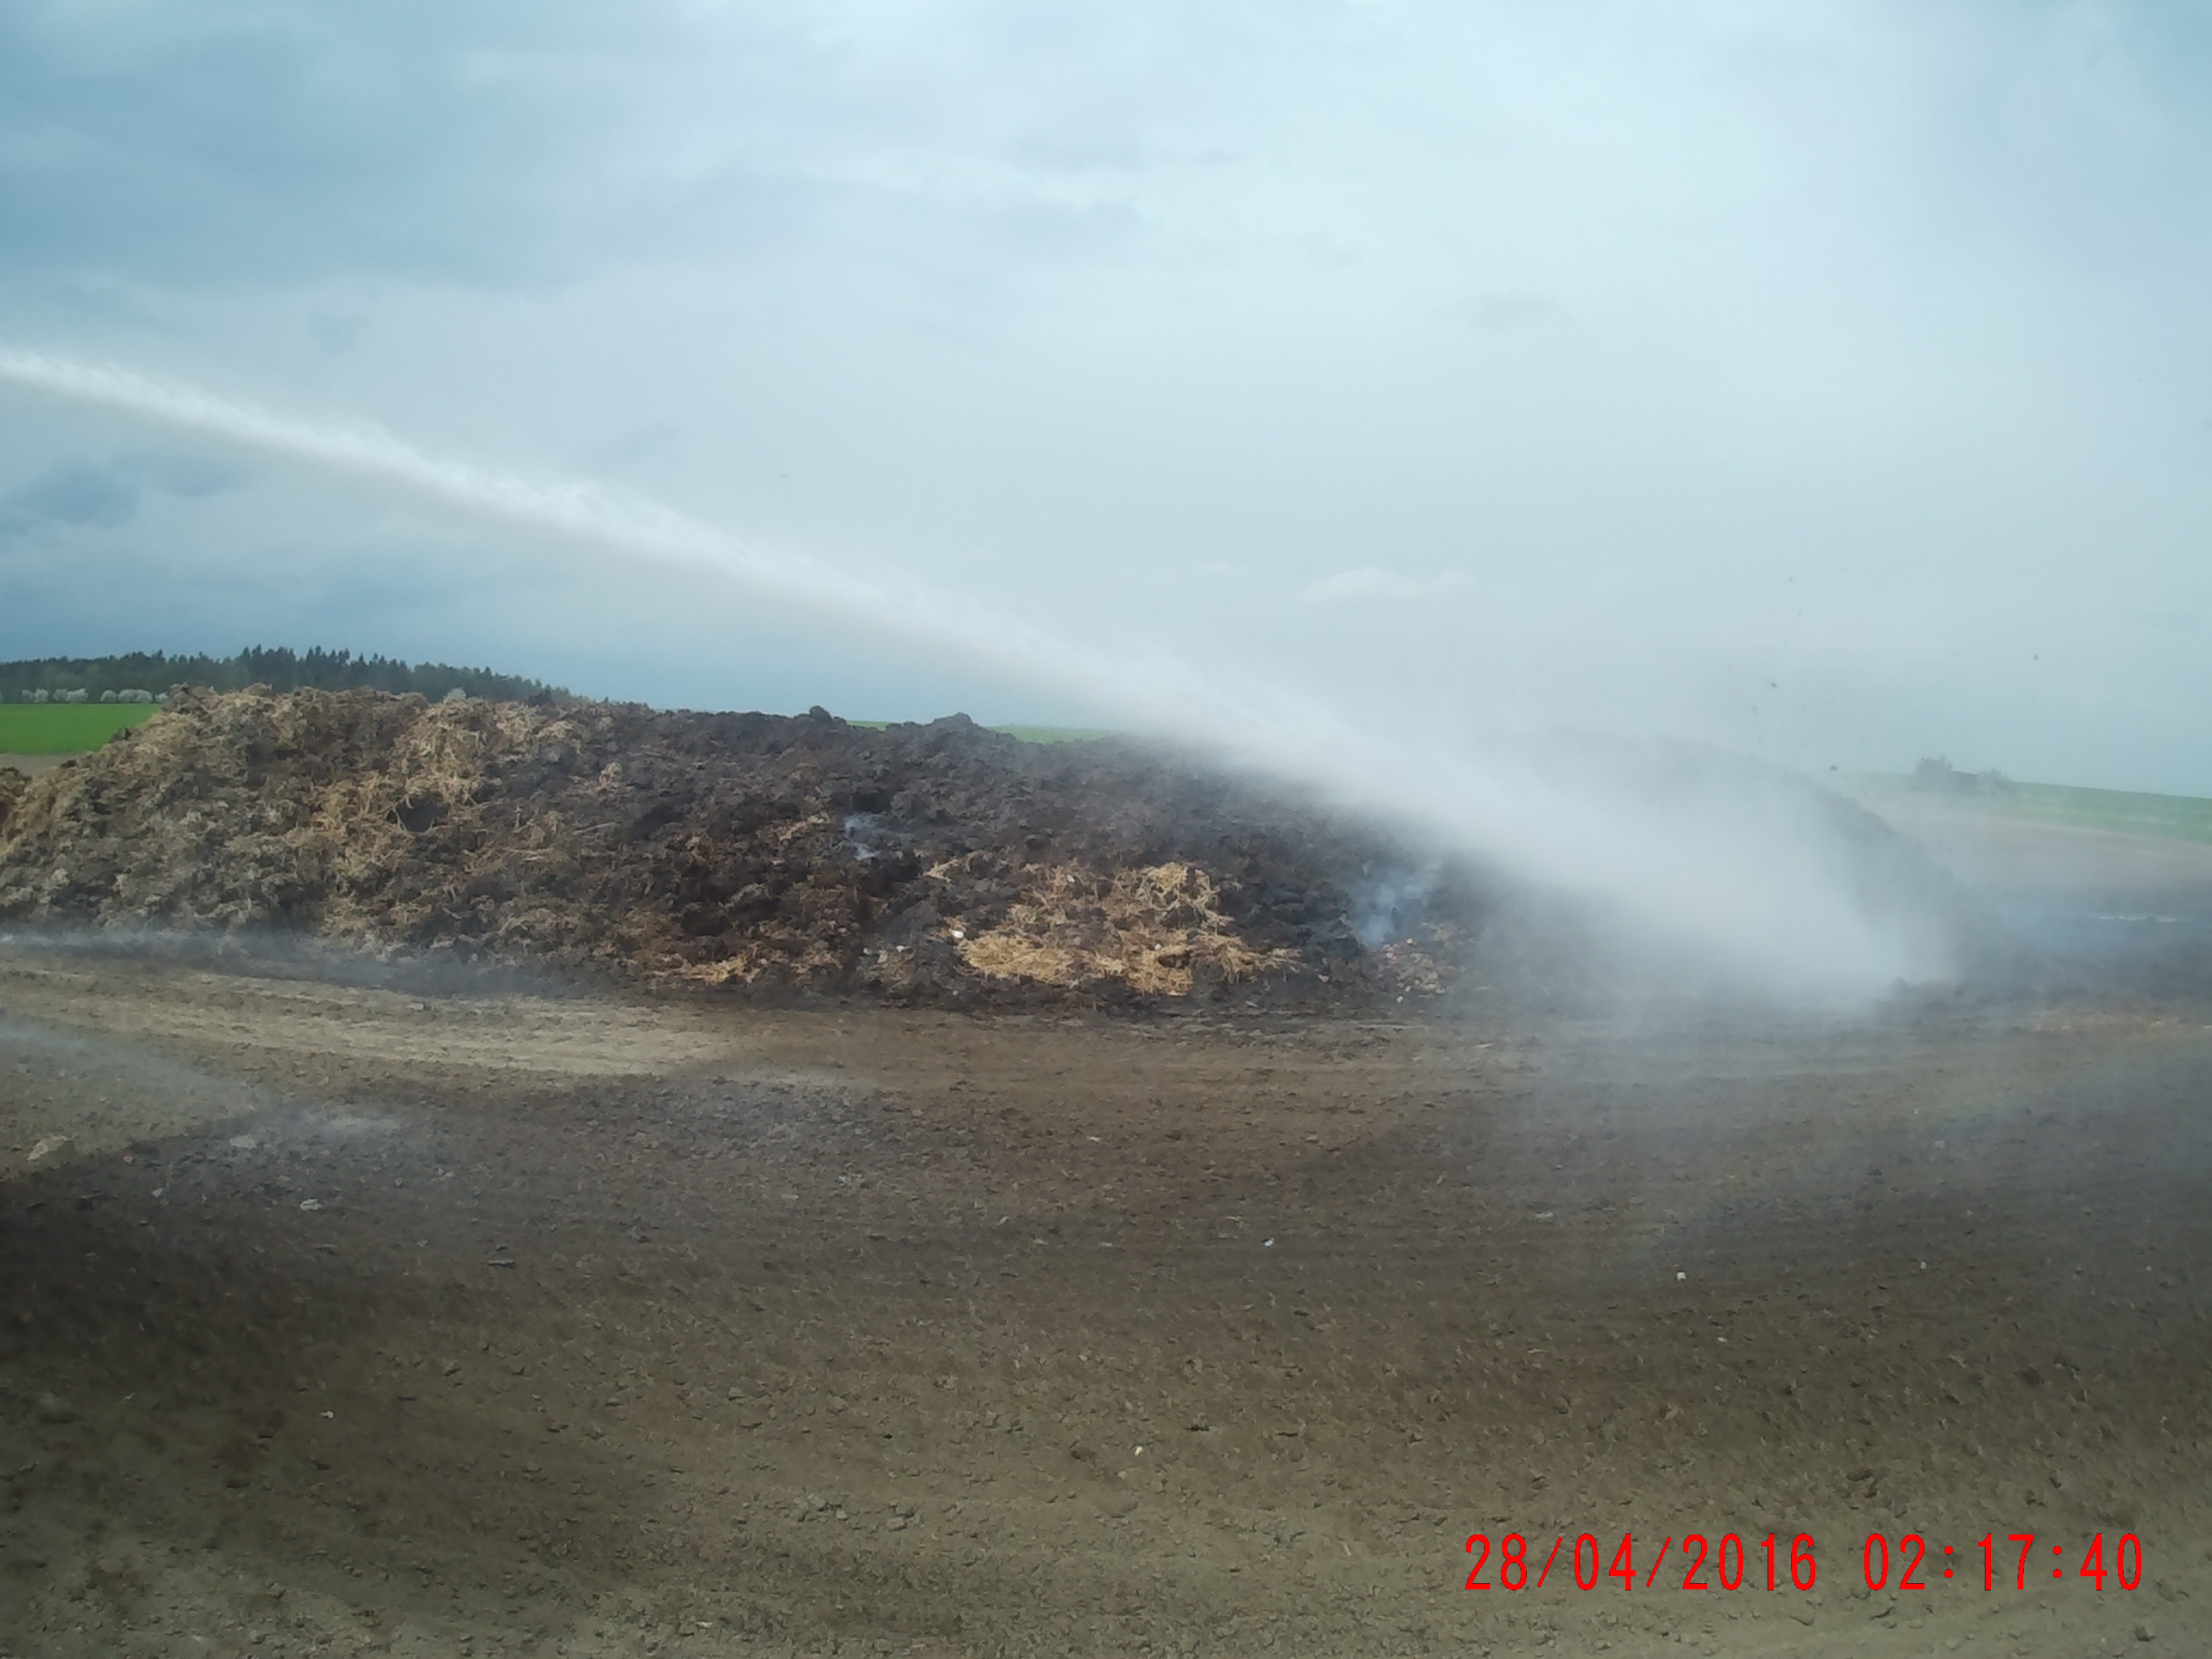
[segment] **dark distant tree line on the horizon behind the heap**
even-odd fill
[[[208,686],[212,690],[246,690],[268,686],[270,690],[383,690],[422,692],[445,697],[498,697],[520,701],[524,697],[566,697],[560,686],[522,675],[498,675],[489,668],[456,668],[442,661],[405,661],[400,657],[356,657],[352,650],[292,650],[290,646],[248,646],[234,657],[208,657],[206,653],[170,657],[161,650],[131,650],[119,657],[24,657],[22,661],[0,661],[0,695],[11,703],[60,701],[62,692],[82,690],[86,701],[100,701],[102,692],[148,690],[166,692],[173,686]],[[38,699],[35,692],[46,692]]]

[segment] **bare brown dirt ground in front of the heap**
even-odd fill
[[[18,938],[0,1652],[2203,1652],[2208,1102],[2181,995],[973,1018]],[[1566,1542],[1464,1588],[1473,1533]]]

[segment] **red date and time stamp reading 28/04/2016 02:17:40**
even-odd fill
[[[1491,1559],[1493,1548],[1495,1562]],[[1537,1540],[1537,1548],[1542,1548],[1542,1540]],[[1568,1557],[1564,1577],[1577,1590],[1595,1590],[1606,1579],[1615,1579],[1624,1590],[1745,1590],[1761,1584],[1770,1590],[1809,1590],[1820,1582],[1818,1546],[1809,1533],[1796,1533],[1787,1542],[1778,1533],[1767,1533],[1750,1546],[1741,1533],[1721,1533],[1719,1540],[1688,1533],[1679,1544],[1668,1535],[1644,1571],[1637,1568],[1635,1533],[1621,1533],[1621,1542],[1610,1551],[1593,1533],[1579,1533],[1568,1548],[1566,1533],[1559,1533],[1542,1564],[1531,1562],[1528,1540],[1522,1533],[1506,1533],[1495,1546],[1489,1533],[1475,1533],[1467,1540],[1467,1553],[1475,1557],[1475,1566],[1467,1575],[1469,1590],[1540,1590],[1551,1579],[1553,1566],[1562,1564],[1562,1553]],[[1670,1555],[1674,1557],[1672,1568],[1661,1579],[1659,1571],[1668,1566]],[[1867,1542],[1858,1551],[1858,1566],[1869,1590],[1931,1590],[1940,1588],[1944,1579],[1971,1584],[1975,1555],[1982,1557],[1984,1590],[2024,1590],[2031,1579],[2044,1582],[2046,1564],[2055,1579],[2064,1579],[2073,1566],[2066,1544],[2051,1544],[2051,1553],[2044,1555],[2035,1533],[1986,1533],[1966,1546],[1929,1544],[1920,1533],[1905,1533],[1898,1540],[1887,1533],[1867,1533]],[[1681,1573],[1679,1582],[1674,1573]],[[2143,1582],[2143,1540],[2135,1533],[2121,1533],[2119,1542],[2108,1546],[2106,1535],[2097,1533],[2081,1546],[2073,1575],[2088,1579],[2099,1590],[2108,1584],[2132,1590]]]

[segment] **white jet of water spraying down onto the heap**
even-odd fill
[[[1809,792],[1743,770],[1632,779],[1526,745],[1444,743],[1354,721],[1312,692],[1230,686],[1157,650],[1099,648],[911,577],[863,575],[582,482],[429,456],[369,425],[299,420],[113,365],[0,349],[0,380],[303,460],[577,544],[697,566],[841,624],[975,659],[1110,719],[1303,779],[1442,847],[1599,900],[1790,1000],[1869,998],[1951,971],[1942,931],[1871,902],[1858,849]]]

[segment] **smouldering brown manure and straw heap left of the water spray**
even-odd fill
[[[1389,836],[1121,743],[535,699],[179,692],[0,779],[0,918],[929,1002],[1449,984],[1482,914]]]

